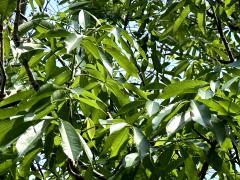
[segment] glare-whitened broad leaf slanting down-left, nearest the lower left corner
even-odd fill
[[[45,121],[41,121],[38,124],[29,127],[27,131],[18,138],[16,149],[19,156],[23,156],[27,151],[35,147],[37,141],[42,137],[41,135],[45,127]]]

